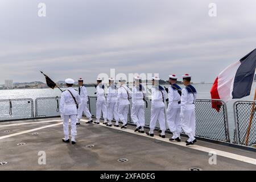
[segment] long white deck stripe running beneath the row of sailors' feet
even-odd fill
[[[81,119],[80,121],[87,122],[88,120]],[[98,125],[98,124],[94,124],[94,125]],[[102,123],[100,123],[100,126],[108,127],[110,129],[114,129],[114,130],[120,130],[120,131],[123,131],[123,132],[135,134],[135,135],[140,135],[142,137],[147,137],[147,138],[151,138],[151,139],[160,140],[160,141],[171,143],[171,144],[176,144],[177,146],[191,148],[191,149],[194,149],[194,150],[199,150],[199,151],[203,151],[203,152],[207,152],[207,153],[210,153],[211,151],[214,151],[219,156],[223,156],[225,158],[239,160],[241,162],[245,162],[245,163],[250,163],[250,164],[256,165],[256,159],[254,159],[254,158],[249,158],[249,157],[246,157],[246,156],[242,156],[242,155],[238,155],[238,154],[233,154],[233,153],[225,152],[225,151],[221,151],[221,150],[216,150],[214,148],[203,147],[203,146],[199,146],[199,145],[193,145],[193,146],[187,147],[187,146],[185,146],[186,145],[185,142],[170,142],[168,138],[161,138],[161,137],[158,137],[158,136],[150,137],[150,136],[148,136],[146,134],[135,133],[133,130],[130,130],[130,129],[122,130],[120,127],[109,127],[109,126],[103,125]]]

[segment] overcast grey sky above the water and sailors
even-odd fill
[[[255,32],[255,0],[0,0],[0,83],[44,81],[39,70],[93,82],[110,68],[213,82],[256,48]]]

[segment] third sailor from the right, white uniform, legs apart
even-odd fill
[[[154,130],[156,122],[159,121],[160,130],[159,137],[165,138],[166,132],[166,117],[164,114],[164,100],[167,100],[167,92],[162,86],[159,85],[159,77],[152,77],[152,93],[151,93],[151,119],[150,119],[150,132],[146,132],[150,137],[154,137]]]

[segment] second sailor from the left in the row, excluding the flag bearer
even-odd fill
[[[104,124],[108,123],[108,110],[106,107],[106,98],[105,98],[105,88],[102,84],[102,78],[97,78],[97,87],[96,87],[96,94],[97,94],[97,102],[96,102],[96,119],[97,121],[94,123],[100,124],[101,118],[101,111],[104,118]]]

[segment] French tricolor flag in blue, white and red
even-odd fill
[[[225,102],[232,98],[242,98],[250,95],[251,85],[256,67],[256,49],[248,53],[241,60],[224,69],[212,86],[212,99],[221,99]],[[220,103],[212,102],[212,107],[220,110]]]

